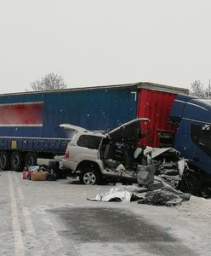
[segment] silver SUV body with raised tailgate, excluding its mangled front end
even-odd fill
[[[133,119],[108,133],[60,125],[73,132],[62,166],[78,175],[85,184],[100,183],[104,178],[136,181],[140,160],[134,159],[134,150],[136,143],[145,136],[141,134],[140,122],[147,121],[149,119]]]

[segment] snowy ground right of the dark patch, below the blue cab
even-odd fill
[[[133,205],[133,206],[132,206]],[[199,255],[211,255],[211,201],[191,196],[190,201],[178,207],[157,207],[132,202],[130,210],[144,214],[152,223],[159,224],[168,233],[178,237]]]

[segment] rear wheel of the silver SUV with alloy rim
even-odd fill
[[[80,182],[86,185],[94,185],[100,183],[100,173],[93,168],[85,168],[79,175]]]

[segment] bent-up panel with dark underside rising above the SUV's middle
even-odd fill
[[[108,134],[111,139],[121,143],[137,143],[140,141],[141,134],[140,122],[148,122],[150,119],[140,118],[133,119],[128,123],[118,126],[114,130],[111,130]]]

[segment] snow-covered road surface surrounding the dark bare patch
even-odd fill
[[[111,189],[109,185],[86,186],[70,179],[56,182],[32,182],[22,180],[20,173],[17,172],[1,172],[0,254],[5,256],[211,255],[209,237],[211,232],[211,201],[191,196],[190,201],[182,202],[182,205],[178,207],[157,207],[140,205],[137,201],[123,203],[87,200],[88,197],[94,198],[98,193],[107,192],[109,189]],[[117,241],[116,243],[115,241],[113,243],[110,241],[83,243],[80,240],[74,243],[74,237],[71,236],[72,239],[70,238],[70,230],[65,230],[66,227],[62,226],[62,219],[57,218],[57,215],[54,214],[60,209],[66,209],[67,212],[69,211],[65,216],[68,220],[72,216],[71,211],[82,209],[86,212],[86,210],[99,209],[99,212],[105,212],[105,208],[111,212],[118,212],[119,210],[120,217],[126,216],[125,213],[128,212],[128,218],[131,216],[131,219],[134,219],[134,222],[131,223],[131,229],[132,226],[135,227],[135,223],[139,224],[139,219],[140,223],[144,221],[149,226],[152,224],[151,227],[159,227],[161,234],[165,235],[166,233],[176,239],[174,242],[164,241],[165,246],[169,245],[173,247],[173,250],[171,253],[143,253],[140,249],[141,241],[134,242],[131,239],[128,239],[127,243],[118,244]],[[83,217],[86,216],[83,214]],[[83,223],[80,221],[80,212],[76,218],[73,216],[71,221],[77,221],[78,224],[85,224],[88,227],[91,225],[92,228],[97,223],[90,217],[86,219],[86,223]],[[71,225],[71,228],[74,227],[77,228],[77,224]],[[112,227],[112,223],[110,227]],[[119,228],[121,227],[117,226],[116,231]],[[108,231],[106,226],[105,232]],[[134,232],[137,232],[137,229],[134,229],[132,234]],[[147,233],[149,230],[140,230],[140,232]],[[70,239],[64,240],[64,234],[67,234]],[[112,233],[108,232],[108,234]],[[122,235],[118,234],[118,236]],[[111,237],[115,238],[113,235]],[[152,246],[153,239],[155,236],[151,236],[151,241],[147,241],[148,247]],[[71,254],[68,253],[70,247],[72,249]],[[186,252],[188,253],[181,254],[181,248],[187,248]]]

